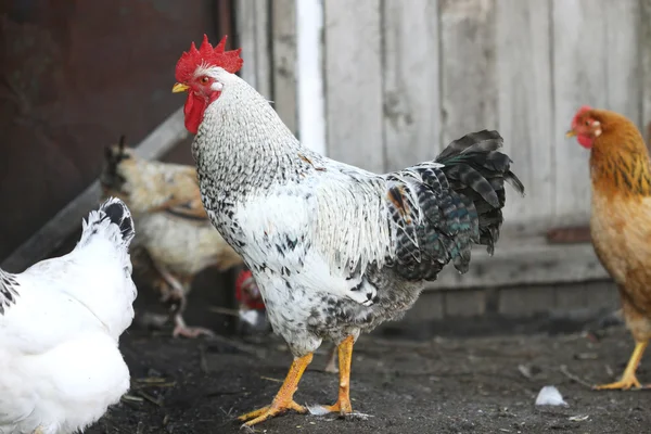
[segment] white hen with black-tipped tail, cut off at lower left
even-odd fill
[[[108,199],[67,255],[0,270],[0,433],[77,432],[127,392],[132,238],[129,209]]]

